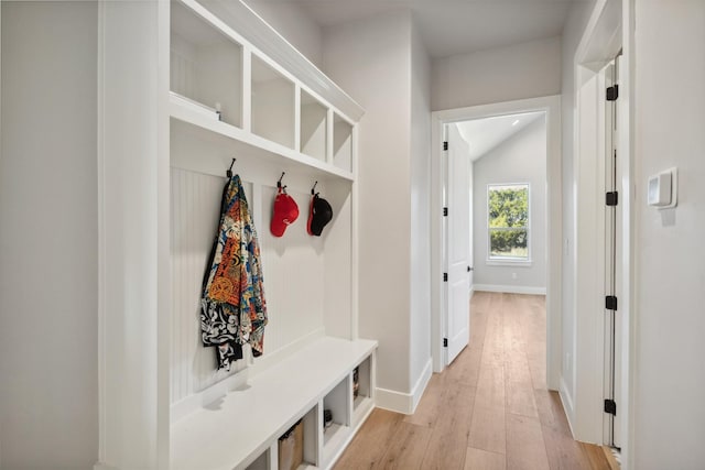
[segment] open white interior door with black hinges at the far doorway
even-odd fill
[[[470,332],[470,200],[471,163],[466,142],[455,124],[446,125],[448,142],[446,188],[447,360],[467,346]]]

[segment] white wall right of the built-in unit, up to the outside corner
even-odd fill
[[[324,72],[365,109],[359,123],[359,334],[379,340],[377,385],[410,391],[411,14],[324,31]],[[379,395],[378,395],[379,396]]]

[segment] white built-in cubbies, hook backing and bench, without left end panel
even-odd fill
[[[295,51],[285,66],[262,52],[260,46],[270,46],[262,41],[269,26],[248,17],[251,11],[242,3],[170,4],[171,227],[178,241],[171,250],[172,302],[193,305],[174,309],[172,374],[178,392],[172,393],[170,467],[276,470],[279,438],[301,422],[299,469],[329,468],[373,407],[377,343],[358,339],[352,327],[352,183],[361,110],[335,84],[321,87],[327,78],[305,72],[310,65]],[[209,369],[210,351],[191,342],[199,335],[191,319],[198,314],[197,277],[217,220],[218,187],[232,159],[260,233],[270,325],[265,354],[253,367],[243,360],[235,372],[221,373]],[[282,173],[301,217],[284,237],[274,238],[268,228]],[[305,231],[316,182],[334,210],[321,238]],[[195,220],[212,222],[194,227]],[[356,368],[357,380],[362,376],[357,398]],[[333,416],[328,426],[326,411]]]

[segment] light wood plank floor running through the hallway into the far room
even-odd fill
[[[545,297],[476,293],[470,343],[413,415],[375,409],[335,469],[609,469],[545,384]]]

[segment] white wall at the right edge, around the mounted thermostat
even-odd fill
[[[674,54],[677,51],[677,54]],[[637,292],[633,469],[705,462],[705,2],[636,1]],[[675,80],[675,81],[674,81]],[[675,94],[664,84],[676,83]],[[646,205],[679,167],[679,205]]]

